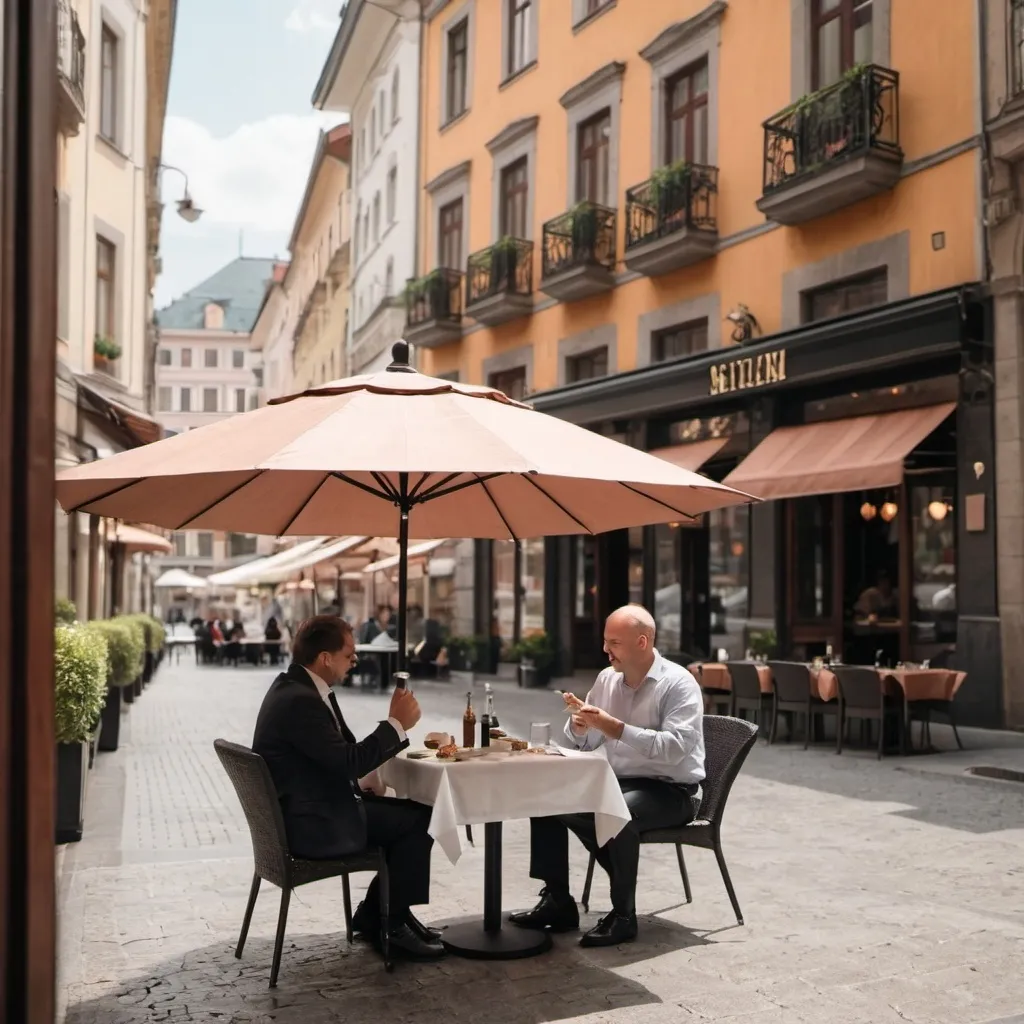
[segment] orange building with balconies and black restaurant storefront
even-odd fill
[[[479,625],[523,628],[519,574],[563,669],[642,600],[677,656],[941,659],[1002,721],[975,5],[425,16],[422,366],[771,499],[495,545]]]

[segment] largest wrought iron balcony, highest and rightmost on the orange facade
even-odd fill
[[[851,68],[764,123],[758,209],[800,224],[892,188],[899,179],[899,74]]]

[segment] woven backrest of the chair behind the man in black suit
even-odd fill
[[[256,873],[273,885],[286,886],[291,858],[270,769],[258,754],[241,743],[215,739],[213,749],[234,786],[249,824]]]

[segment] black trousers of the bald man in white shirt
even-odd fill
[[[636,910],[640,834],[675,828],[693,820],[696,808],[680,785],[656,778],[621,778],[632,820],[604,846],[597,845],[593,814],[563,814],[529,822],[529,876],[553,893],[569,892],[569,831],[597,858],[611,880],[611,906],[617,913]]]

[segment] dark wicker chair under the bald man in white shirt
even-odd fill
[[[683,879],[683,890],[686,902],[692,903],[690,880],[686,873],[686,861],[683,859],[683,847],[695,846],[703,850],[714,850],[715,859],[722,871],[725,891],[729,894],[736,924],[743,923],[739,909],[736,891],[732,888],[729,868],[722,852],[722,815],[725,813],[725,803],[729,799],[732,783],[739,774],[739,769],[751,753],[757,739],[758,727],[740,718],[729,718],[725,715],[706,715],[703,719],[705,733],[705,771],[703,800],[700,803],[698,815],[687,825],[677,828],[654,828],[641,833],[641,843],[671,843],[676,848],[679,860],[679,873]],[[583,906],[590,911],[590,890],[594,882],[594,863],[596,858],[590,856],[587,867],[587,882],[583,890]]]

